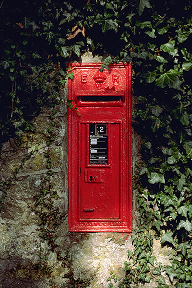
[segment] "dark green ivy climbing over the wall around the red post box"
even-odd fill
[[[59,97],[66,75],[73,77],[68,63],[88,49],[93,55],[110,54],[102,69],[119,61],[132,63],[137,102],[133,126],[143,141],[136,184],[140,219],[132,234],[134,250],[125,262],[126,276],[117,282],[111,274],[110,287],[153,281],[158,288],[170,283],[191,288],[191,7],[189,0],[26,0],[0,5],[2,142],[33,131],[30,120]],[[53,108],[53,123],[54,113]],[[47,165],[50,174],[51,162]],[[36,205],[43,205],[42,195],[54,197],[49,176],[49,188],[37,196]],[[48,230],[44,232],[47,237]],[[154,238],[169,249],[168,265],[153,256]]]

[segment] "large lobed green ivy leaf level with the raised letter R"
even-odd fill
[[[155,80],[155,84],[160,88],[164,88],[166,84],[174,89],[180,90],[180,81],[177,76],[177,72],[170,69],[163,73],[160,77]]]

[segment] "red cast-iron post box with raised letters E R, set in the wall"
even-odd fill
[[[70,67],[69,230],[131,232],[131,65]]]

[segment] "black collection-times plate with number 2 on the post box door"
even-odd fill
[[[89,164],[108,164],[107,124],[89,124]]]

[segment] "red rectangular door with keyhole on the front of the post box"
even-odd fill
[[[119,123],[81,124],[81,220],[120,219],[119,132]]]

